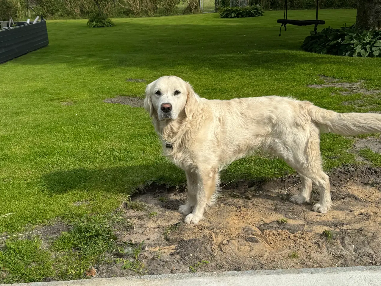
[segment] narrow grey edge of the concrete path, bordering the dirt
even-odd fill
[[[123,285],[125,281],[129,281],[129,285],[133,285],[133,280],[178,280],[189,279],[194,277],[208,278],[208,277],[237,277],[237,276],[267,276],[267,275],[287,275],[287,274],[317,274],[317,273],[344,273],[344,272],[368,272],[380,271],[381,266],[355,266],[355,267],[333,267],[333,268],[299,268],[299,269],[278,269],[278,270],[248,270],[248,271],[229,271],[229,272],[199,272],[199,273],[177,273],[177,274],[163,274],[163,275],[144,275],[144,276],[125,276],[114,278],[93,278],[83,280],[70,280],[70,281],[54,281],[54,282],[34,282],[34,283],[16,283],[16,284],[0,284],[0,286],[68,286],[75,284],[98,284],[104,285],[107,282],[120,283]]]

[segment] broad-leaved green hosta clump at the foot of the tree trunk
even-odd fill
[[[312,53],[381,57],[381,31],[367,31],[351,27],[328,27],[316,35],[306,37],[302,48]]]

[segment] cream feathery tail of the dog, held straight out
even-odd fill
[[[381,132],[381,114],[338,113],[314,105],[311,105],[309,114],[323,132],[352,136]]]

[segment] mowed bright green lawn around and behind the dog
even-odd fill
[[[309,19],[314,11],[290,11]],[[325,26],[355,21],[355,10],[321,10]],[[367,80],[380,88],[381,59],[317,55],[300,50],[311,27],[288,26],[282,11],[246,19],[218,14],[114,19],[90,29],[86,20],[48,21],[48,47],[0,65],[0,233],[12,234],[56,217],[77,219],[120,207],[147,180],[185,182],[161,156],[143,108],[107,104],[117,95],[144,96],[146,79],[176,75],[209,99],[281,95],[339,112],[379,110],[376,97],[331,95],[313,89],[319,74]],[[322,26],[319,26],[322,29]],[[343,101],[363,100],[361,110]],[[240,136],[240,134],[237,134]],[[322,137],[326,169],[354,162],[352,140]],[[234,162],[223,180],[269,178],[293,172],[279,159]],[[76,204],[86,201],[85,204]]]

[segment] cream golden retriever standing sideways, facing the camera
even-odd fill
[[[281,157],[298,172],[301,191],[291,202],[308,201],[315,183],[320,201],[312,210],[325,213],[331,195],[322,169],[320,132],[381,132],[381,114],[341,114],[280,96],[207,100],[176,76],[147,85],[144,108],[163,154],[186,173],[189,198],[179,208],[185,223],[198,223],[216,201],[219,171],[258,150]]]

